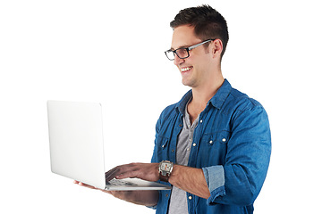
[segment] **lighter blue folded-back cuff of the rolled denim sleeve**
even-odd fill
[[[211,204],[216,197],[225,195],[225,170],[221,165],[203,168],[202,170],[211,194],[208,204]]]

